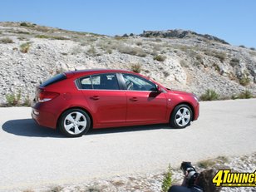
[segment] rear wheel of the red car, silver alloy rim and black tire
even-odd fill
[[[70,109],[62,113],[58,121],[58,128],[68,137],[79,137],[90,129],[91,118],[86,111]]]

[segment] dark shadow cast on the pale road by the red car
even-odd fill
[[[166,124],[150,125],[150,126],[124,126],[115,128],[93,129],[89,130],[87,135],[111,134],[131,131],[143,130],[161,130],[170,129]],[[21,119],[6,121],[2,125],[2,130],[13,135],[31,136],[31,137],[56,137],[65,138],[59,130],[53,130],[47,127],[38,126],[32,119]]]

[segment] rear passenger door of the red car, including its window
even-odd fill
[[[81,91],[96,117],[96,124],[126,122],[126,93],[120,90],[116,73],[104,73],[81,78]]]

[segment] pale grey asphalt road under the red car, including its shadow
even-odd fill
[[[30,112],[0,108],[0,191],[157,173],[183,160],[256,151],[256,99],[201,102],[199,120],[185,129],[133,126],[74,139],[37,126]]]

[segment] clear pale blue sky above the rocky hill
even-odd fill
[[[111,36],[177,28],[256,47],[256,0],[2,0],[0,21]]]

